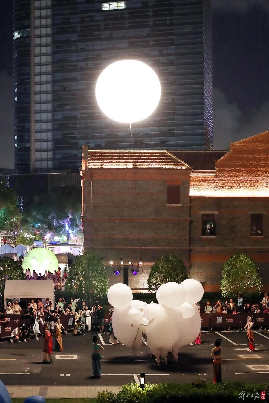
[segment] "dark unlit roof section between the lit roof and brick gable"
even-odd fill
[[[215,170],[215,161],[227,151],[171,151],[175,157],[188,164],[194,170]]]

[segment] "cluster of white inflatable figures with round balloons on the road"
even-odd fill
[[[115,307],[112,316],[113,332],[117,339],[136,352],[146,333],[148,347],[156,356],[167,360],[172,349],[175,360],[180,347],[191,343],[200,332],[201,321],[195,305],[204,290],[197,280],[188,278],[180,285],[166,283],[158,288],[158,303],[133,301],[131,289],[115,284],[108,290],[108,302]]]

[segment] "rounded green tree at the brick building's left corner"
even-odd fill
[[[89,300],[105,295],[108,277],[101,258],[94,252],[85,252],[75,258],[65,287],[66,291],[83,293]]]

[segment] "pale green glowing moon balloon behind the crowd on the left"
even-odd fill
[[[58,260],[49,249],[34,248],[26,253],[23,258],[23,270],[35,270],[38,274],[44,274],[45,270],[54,273],[58,269]]]

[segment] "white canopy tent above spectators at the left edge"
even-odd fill
[[[6,280],[4,291],[4,308],[6,300],[11,298],[49,298],[54,301],[52,280]]]

